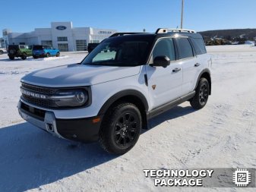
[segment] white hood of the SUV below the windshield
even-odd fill
[[[62,65],[33,71],[24,76],[21,82],[43,87],[80,87],[130,77],[139,74],[140,70],[141,66]]]

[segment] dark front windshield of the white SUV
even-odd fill
[[[84,58],[82,65],[145,65],[154,36],[119,36],[105,39]]]

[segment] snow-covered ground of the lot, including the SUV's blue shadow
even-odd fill
[[[97,143],[52,137],[17,113],[24,74],[79,62],[85,53],[26,61],[0,55],[0,191],[171,191],[154,187],[143,169],[255,168],[256,47],[207,50],[213,58],[213,90],[206,107],[194,111],[185,102],[153,118],[150,129],[123,156],[109,155]]]

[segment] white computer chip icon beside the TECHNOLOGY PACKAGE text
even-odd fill
[[[237,168],[233,173],[233,182],[237,187],[246,187],[251,182],[251,173],[246,168]]]

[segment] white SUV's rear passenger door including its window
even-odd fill
[[[182,95],[194,90],[194,80],[197,80],[198,72],[201,71],[201,63],[194,52],[188,37],[175,38],[179,52],[179,64],[183,69]]]

